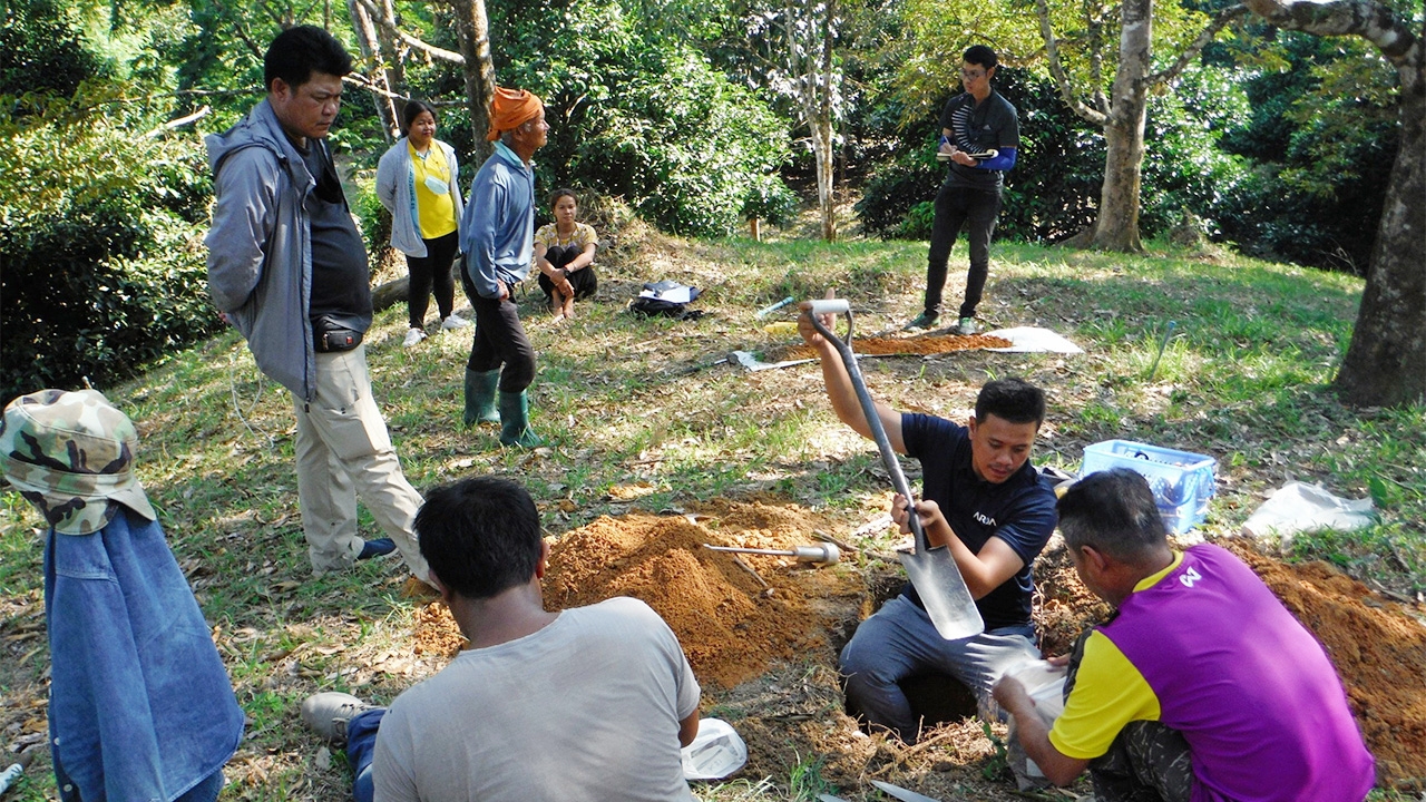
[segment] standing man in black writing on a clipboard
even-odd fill
[[[933,328],[941,317],[951,245],[970,223],[971,264],[965,274],[965,300],[953,334],[975,334],[975,307],[990,273],[990,237],[1000,214],[1004,173],[1015,166],[1020,150],[1020,118],[1015,107],[991,86],[995,51],[977,44],[961,56],[961,86],[965,91],[941,110],[941,141],[935,158],[950,163],[950,176],[935,194],[931,247],[927,253],[925,307],[906,325],[908,331]]]

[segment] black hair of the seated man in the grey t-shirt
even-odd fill
[[[469,599],[529,582],[539,565],[539,511],[509,479],[473,477],[431,491],[414,528],[431,572]]]

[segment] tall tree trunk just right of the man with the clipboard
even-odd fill
[[[1119,31],[1119,68],[1104,121],[1104,184],[1092,237],[1087,243],[1105,251],[1138,253],[1139,174],[1144,166],[1144,120],[1148,113],[1148,74],[1154,0],[1127,0]]]

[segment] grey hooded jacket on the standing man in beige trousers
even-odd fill
[[[317,395],[308,303],[312,241],[305,207],[317,180],[267,100],[222,134],[210,134],[215,203],[208,293],[248,341],[258,368],[298,398]]]

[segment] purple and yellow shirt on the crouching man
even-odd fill
[[[1356,802],[1375,782],[1322,645],[1215,545],[1175,555],[1085,641],[1050,742],[1098,758],[1131,721],[1184,734],[1195,802]]]

